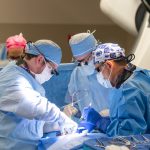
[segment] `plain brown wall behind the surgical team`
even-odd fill
[[[0,0],[0,43],[23,33],[27,40],[51,39],[62,48],[62,62],[71,61],[68,35],[96,30],[100,42],[132,49],[135,38],[105,16],[99,0]]]

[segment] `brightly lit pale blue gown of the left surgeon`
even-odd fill
[[[44,95],[44,88],[14,62],[0,71],[0,149],[35,150],[44,133],[65,121]]]

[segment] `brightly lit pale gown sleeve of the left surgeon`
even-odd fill
[[[13,112],[27,119],[36,119],[60,125],[74,122],[62,113],[55,104],[33,89],[21,72],[14,70],[1,80],[0,110]],[[35,79],[33,79],[35,80]]]

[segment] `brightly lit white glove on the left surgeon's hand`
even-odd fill
[[[61,134],[76,133],[78,127],[77,123],[67,117],[63,112],[61,112],[61,117],[63,118],[63,121],[60,123]]]

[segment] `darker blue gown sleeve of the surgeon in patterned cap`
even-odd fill
[[[147,130],[144,118],[147,96],[133,86],[126,86],[114,96],[111,106],[111,124],[107,128],[109,136],[143,134]]]

